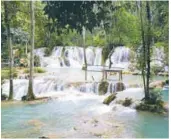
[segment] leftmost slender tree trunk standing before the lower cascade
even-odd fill
[[[9,76],[10,76],[10,86],[9,86],[9,98],[8,100],[13,99],[13,49],[12,49],[12,39],[11,39],[11,32],[10,32],[10,17],[9,17],[9,8],[8,8],[8,1],[4,1],[4,9],[5,9],[5,24],[7,30],[7,43],[9,47]]]

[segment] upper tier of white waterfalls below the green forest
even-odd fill
[[[52,50],[49,57],[44,57],[45,48],[35,49],[35,55],[40,57],[42,67],[61,68],[72,67],[82,68],[84,65],[83,48],[78,46],[56,46]],[[130,64],[130,49],[124,46],[116,47],[112,56],[112,67],[128,68]],[[89,46],[86,48],[87,64],[101,65],[102,63],[102,48]],[[164,49],[153,47],[152,59],[154,64],[159,66],[165,58]],[[106,66],[109,66],[109,59],[106,60]]]

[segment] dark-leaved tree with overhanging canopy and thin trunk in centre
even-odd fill
[[[108,9],[104,6],[111,2],[104,1],[47,1],[44,8],[45,14],[52,19],[52,30],[61,33],[61,29],[76,30],[80,34],[85,30],[93,31],[94,27],[100,26],[102,20],[105,19]],[[83,31],[84,30],[84,31]],[[84,35],[83,35],[84,36]],[[87,62],[85,52],[85,39],[83,39],[84,62],[85,62],[85,79]]]

